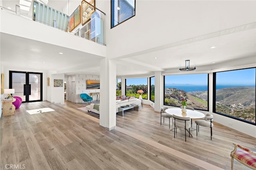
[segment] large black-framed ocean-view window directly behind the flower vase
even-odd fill
[[[194,109],[208,110],[208,74],[164,76],[164,105],[181,106],[183,98]]]

